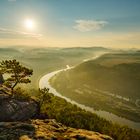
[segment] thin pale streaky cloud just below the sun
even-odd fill
[[[37,38],[40,39],[43,35],[42,34],[35,34],[35,33],[28,33],[22,31],[15,31],[6,28],[0,28],[0,38],[8,38],[8,37],[20,37],[20,38]]]

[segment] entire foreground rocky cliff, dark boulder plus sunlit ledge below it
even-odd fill
[[[66,127],[53,119],[31,120],[37,113],[35,101],[0,94],[0,140],[112,140],[97,132]]]

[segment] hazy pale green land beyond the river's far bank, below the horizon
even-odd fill
[[[66,65],[75,65],[83,59],[93,57],[98,52],[108,52],[103,47],[46,47],[31,48],[12,46],[0,48],[0,60],[16,59],[25,66],[34,70],[32,85],[38,88],[38,80],[45,73],[64,68]]]

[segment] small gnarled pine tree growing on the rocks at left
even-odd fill
[[[19,83],[30,83],[30,77],[33,74],[32,69],[22,66],[18,61],[5,60],[0,62],[0,71],[2,74],[9,74],[9,78],[4,81],[4,85],[11,89],[13,95],[14,88]]]

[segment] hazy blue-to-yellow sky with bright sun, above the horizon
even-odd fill
[[[140,0],[0,0],[0,46],[140,48]]]

